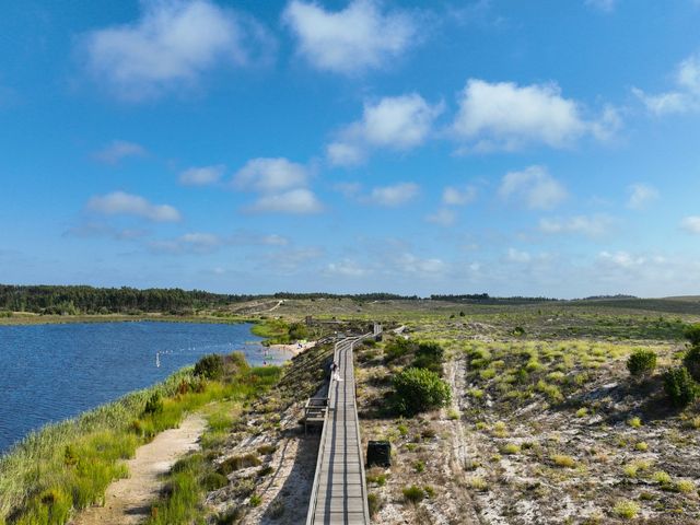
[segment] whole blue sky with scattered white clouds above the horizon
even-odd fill
[[[0,281],[700,293],[700,2],[9,3]]]

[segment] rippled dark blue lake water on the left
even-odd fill
[[[250,325],[98,323],[0,326],[0,453],[27,432],[144,388],[207,353],[279,363]],[[156,352],[160,366],[156,366]]]

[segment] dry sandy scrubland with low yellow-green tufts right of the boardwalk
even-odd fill
[[[700,417],[673,409],[661,380],[685,351],[682,323],[530,308],[407,324],[447,349],[453,407],[388,417],[400,365],[385,364],[386,340],[358,353],[363,439],[394,454],[368,478],[376,523],[698,523]],[[626,360],[639,348],[658,370],[633,380]]]

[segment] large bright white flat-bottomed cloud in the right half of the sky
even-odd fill
[[[587,121],[575,101],[561,96],[557,84],[518,86],[513,82],[467,81],[458,100],[454,135],[463,151],[513,151],[529,144],[567,148],[585,135],[603,139],[619,126],[607,107],[598,120]]]

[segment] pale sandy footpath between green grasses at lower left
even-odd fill
[[[131,476],[107,488],[104,506],[86,509],[71,524],[121,525],[143,521],[162,488],[159,476],[167,472],[178,457],[199,447],[206,425],[201,415],[189,415],[178,429],[161,432],[151,443],[139,447],[136,457],[127,462]]]

